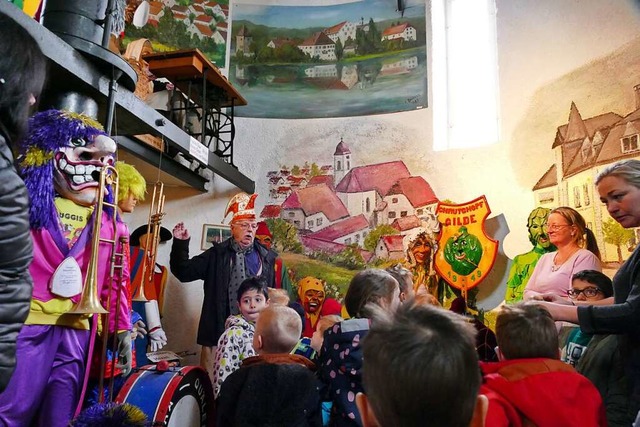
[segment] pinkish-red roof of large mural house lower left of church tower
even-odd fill
[[[314,185],[294,191],[282,203],[282,209],[302,209],[307,216],[322,212],[329,221],[349,216],[342,201],[326,185]]]

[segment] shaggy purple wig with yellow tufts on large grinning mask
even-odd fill
[[[49,228],[57,223],[54,204],[55,153],[61,148],[71,147],[72,140],[93,141],[98,135],[106,135],[102,125],[83,114],[47,110],[29,119],[29,131],[20,147],[18,163],[31,199],[31,228]],[[112,192],[107,194],[106,201],[113,203]]]

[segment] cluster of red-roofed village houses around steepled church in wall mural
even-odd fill
[[[429,183],[412,176],[403,161],[354,167],[351,150],[342,138],[333,154],[333,166],[309,166],[308,162],[291,169],[283,166],[267,172],[267,179],[272,203],[261,216],[276,218],[278,213],[291,223],[308,253],[336,254],[352,244],[362,247],[372,229],[387,224],[398,235],[383,236],[388,239],[376,243],[375,253],[361,249],[367,252],[363,257],[402,258],[403,236],[422,227],[421,218],[434,213],[438,203]],[[284,194],[286,198],[278,205]]]

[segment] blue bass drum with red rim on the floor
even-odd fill
[[[139,407],[154,426],[213,425],[213,388],[198,366],[166,371],[143,366],[127,379],[115,401]]]

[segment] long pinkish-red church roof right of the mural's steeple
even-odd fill
[[[376,190],[387,194],[391,187],[411,174],[402,160],[375,165],[358,166],[349,171],[336,187],[339,193],[361,193]]]

